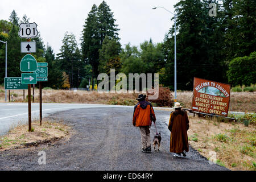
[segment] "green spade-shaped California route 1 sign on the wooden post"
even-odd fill
[[[20,61],[20,71],[22,72],[35,72],[38,69],[38,63],[34,56],[27,54]]]

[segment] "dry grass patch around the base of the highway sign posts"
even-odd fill
[[[32,143],[49,142],[69,137],[70,127],[62,121],[39,121],[32,122],[32,132],[28,132],[28,125],[17,126],[9,133],[0,137],[0,151],[11,148],[22,148]]]

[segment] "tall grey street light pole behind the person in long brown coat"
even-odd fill
[[[172,13],[171,11],[165,9],[164,7],[158,6],[169,13],[174,15],[174,103],[177,102],[177,69],[176,69],[176,14]],[[155,10],[158,7],[153,7],[152,9]]]

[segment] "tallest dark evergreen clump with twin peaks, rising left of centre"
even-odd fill
[[[99,7],[92,6],[92,10],[85,20],[84,30],[82,31],[82,59],[92,65],[93,76],[97,76],[100,52],[104,39],[109,38],[118,39],[119,30],[113,13],[109,6],[103,1]]]

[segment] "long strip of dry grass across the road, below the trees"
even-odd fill
[[[4,88],[0,86],[0,102],[5,101]],[[2,91],[1,91],[2,90]],[[23,102],[23,90],[11,90],[13,102]],[[27,90],[25,91],[27,96]],[[32,92],[31,92],[32,94]],[[59,103],[80,103],[80,104],[111,104],[111,105],[135,105],[138,94],[105,94],[96,91],[87,92],[77,90],[42,90],[43,102]],[[174,93],[172,92],[174,96]],[[177,92],[177,101],[184,108],[191,108],[192,105],[191,91]],[[256,92],[232,92],[230,97],[229,111],[256,111]],[[25,101],[27,100],[25,96]],[[35,102],[39,102],[39,89],[35,89]],[[155,105],[156,106],[156,105]]]

